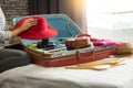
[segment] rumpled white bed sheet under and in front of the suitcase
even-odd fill
[[[0,74],[0,88],[133,88],[133,58],[102,72],[30,64]]]

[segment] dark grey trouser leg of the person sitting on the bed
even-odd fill
[[[31,57],[23,51],[0,48],[0,73],[30,63]]]

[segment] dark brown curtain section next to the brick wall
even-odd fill
[[[59,13],[59,0],[29,0],[30,14]]]

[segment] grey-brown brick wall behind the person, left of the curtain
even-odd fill
[[[0,0],[0,4],[9,24],[13,18],[29,14],[28,0]]]

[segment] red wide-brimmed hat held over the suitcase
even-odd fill
[[[19,36],[21,38],[25,38],[25,40],[41,40],[41,38],[49,38],[49,37],[53,37],[58,34],[57,30],[49,26],[47,24],[47,20],[42,16],[39,15],[33,15],[30,16],[33,19],[38,20],[38,24],[31,26],[29,30],[22,32],[21,34],[19,34]],[[27,19],[30,18],[23,18],[21,19],[16,25],[14,29],[19,28]]]

